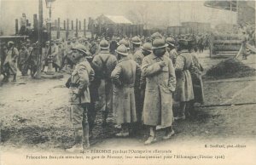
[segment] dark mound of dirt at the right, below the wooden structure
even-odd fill
[[[240,60],[229,58],[213,65],[205,77],[207,78],[232,78],[255,76],[255,69],[244,65]]]

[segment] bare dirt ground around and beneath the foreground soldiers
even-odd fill
[[[208,53],[208,52],[207,52]],[[210,59],[199,54],[204,68],[218,64],[223,58]],[[255,54],[243,60],[255,67]],[[67,75],[58,80],[17,78],[16,83],[0,86],[1,145],[3,150],[32,148],[40,151],[64,151],[73,143],[72,124],[69,121],[68,89],[64,84]],[[2,78],[2,77],[1,77]],[[1,79],[0,78],[0,79]],[[205,104],[255,103],[256,77],[204,80]],[[196,107],[195,115],[184,121],[174,122],[176,135],[161,141],[160,145],[182,144],[182,141],[213,139],[255,139],[255,105],[229,105]],[[117,139],[111,114],[108,127],[102,127],[102,114],[97,112],[92,148],[137,145],[143,147],[148,131],[143,129],[128,139]],[[154,146],[154,145],[153,145]]]

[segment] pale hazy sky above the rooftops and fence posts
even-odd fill
[[[236,24],[236,13],[211,9],[205,1],[152,1],[152,0],[56,0],[52,6],[52,20],[88,20],[101,14],[124,15],[131,21],[146,22],[148,27],[180,26],[183,21]],[[49,18],[49,9],[44,5],[44,20]],[[4,35],[15,33],[15,19],[25,13],[32,23],[38,13],[38,0],[0,0],[0,28]],[[138,18],[138,19],[135,19]],[[88,22],[88,21],[87,21]],[[62,26],[62,25],[61,25]]]

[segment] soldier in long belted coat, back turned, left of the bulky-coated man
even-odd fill
[[[134,85],[141,74],[140,66],[128,57],[125,45],[120,45],[117,50],[118,64],[111,73],[113,81],[113,119],[121,125],[119,137],[129,135],[129,126],[137,122],[137,112],[134,95]]]

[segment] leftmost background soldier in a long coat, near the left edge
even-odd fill
[[[19,51],[17,48],[15,48],[15,43],[12,41],[9,41],[7,43],[8,50],[7,50],[7,56],[6,59],[4,60],[4,67],[6,68],[6,81],[9,81],[9,76],[13,75],[13,82],[16,82],[16,75],[17,75],[17,64],[16,60],[19,56]]]

